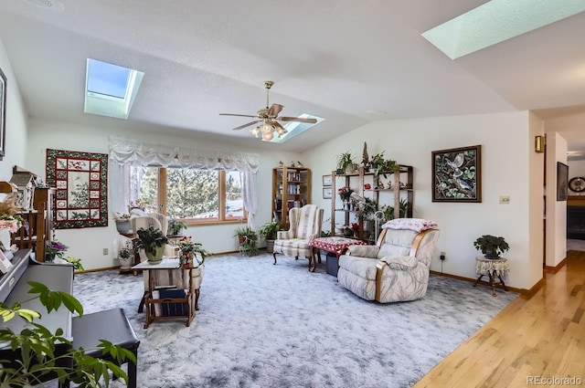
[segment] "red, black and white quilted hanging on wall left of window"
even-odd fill
[[[56,229],[108,225],[108,154],[47,149]]]

